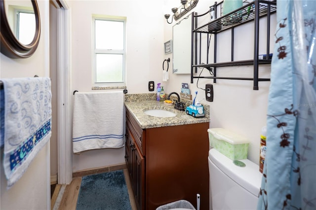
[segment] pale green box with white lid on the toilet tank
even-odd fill
[[[209,145],[232,160],[247,159],[249,140],[223,128],[207,130]]]

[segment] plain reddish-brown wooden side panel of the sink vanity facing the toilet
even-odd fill
[[[178,200],[209,209],[209,123],[146,130],[146,210]],[[161,134],[166,134],[162,136]]]

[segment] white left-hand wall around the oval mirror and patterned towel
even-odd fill
[[[38,1],[41,18],[40,44],[33,56],[27,59],[10,59],[0,54],[1,78],[49,76],[48,0]],[[1,149],[1,204],[3,210],[43,210],[50,208],[49,143],[33,160],[22,178],[6,190]]]

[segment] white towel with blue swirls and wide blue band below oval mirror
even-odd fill
[[[2,79],[7,189],[21,178],[51,136],[49,77]]]

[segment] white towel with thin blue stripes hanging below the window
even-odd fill
[[[75,93],[73,151],[124,146],[122,91]]]

